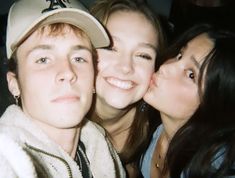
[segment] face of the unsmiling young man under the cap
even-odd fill
[[[94,80],[92,47],[65,26],[60,35],[34,32],[17,50],[18,78],[8,73],[26,115],[43,127],[76,127],[90,108]]]

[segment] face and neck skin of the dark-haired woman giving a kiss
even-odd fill
[[[164,130],[155,148],[151,177],[161,177],[155,166],[156,161],[163,165],[157,160],[158,155],[164,160],[169,140],[200,104],[197,79],[204,57],[212,47],[213,42],[206,34],[199,35],[176,57],[168,59],[152,77],[144,100],[160,111]]]

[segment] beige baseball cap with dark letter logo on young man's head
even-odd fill
[[[53,23],[79,27],[88,35],[95,48],[110,43],[103,26],[78,0],[18,0],[8,14],[7,58],[10,59],[18,45],[37,28]]]

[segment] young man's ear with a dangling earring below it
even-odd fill
[[[20,88],[16,74],[13,72],[7,72],[8,89],[13,96],[20,96]]]

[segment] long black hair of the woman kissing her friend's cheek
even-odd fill
[[[214,47],[200,71],[201,104],[168,148],[166,165],[171,178],[182,173],[190,178],[235,176],[235,35],[210,25],[197,25],[182,35],[168,56],[174,56],[203,33]]]

